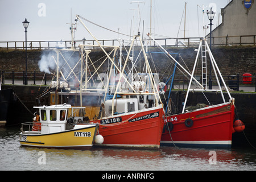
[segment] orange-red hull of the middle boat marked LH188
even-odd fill
[[[150,108],[114,115],[93,123],[100,124],[99,132],[104,137],[101,146],[159,148],[164,111],[162,107]]]

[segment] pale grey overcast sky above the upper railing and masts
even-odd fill
[[[144,21],[144,35],[150,31],[150,0],[139,3],[141,13],[141,28]],[[213,5],[217,11],[213,20],[215,28],[218,20],[221,23],[220,9],[225,7],[227,0],[152,0],[152,32],[154,34],[175,37],[177,36],[180,22],[179,38],[184,36],[184,15],[183,10],[187,2],[186,18],[186,37],[203,36],[203,13],[199,7]],[[199,5],[199,6],[197,6]],[[72,18],[71,18],[72,9]],[[138,24],[138,3],[131,3],[130,0],[0,0],[0,41],[23,41],[24,27],[22,22],[27,18],[30,22],[27,29],[28,41],[35,40],[71,40],[69,24],[74,23],[76,14],[100,24],[103,27],[130,35],[131,20],[134,19],[134,25]],[[207,7],[205,10],[209,10]],[[133,17],[134,15],[134,17]],[[181,17],[183,19],[181,20]],[[205,14],[205,24],[209,24]],[[118,35],[106,31],[100,27],[94,26],[84,21],[86,26],[93,32],[98,39],[117,39]],[[138,28],[134,28],[137,33]],[[199,34],[200,30],[200,34]],[[121,36],[122,38],[127,38]],[[75,39],[82,38],[92,40],[92,38],[82,27],[81,23],[77,25]],[[156,36],[155,36],[156,37]],[[156,37],[157,38],[157,37]]]

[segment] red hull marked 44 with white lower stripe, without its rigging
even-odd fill
[[[166,118],[165,123],[168,122],[172,130],[169,133],[167,124],[164,125],[161,144],[231,147],[234,121],[233,104],[205,107]],[[193,122],[190,127],[185,126],[185,121],[188,118],[191,118]]]

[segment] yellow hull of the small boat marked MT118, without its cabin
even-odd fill
[[[51,134],[25,131],[20,133],[19,142],[31,147],[89,149],[93,146],[97,131],[98,125]]]

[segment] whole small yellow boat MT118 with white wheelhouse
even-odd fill
[[[79,113],[74,109],[82,107],[63,104],[34,108],[39,109],[39,121],[36,126],[31,122],[22,123],[19,137],[22,146],[74,149],[89,149],[93,146],[98,125],[86,124],[82,116],[73,116]],[[24,131],[25,127],[28,127],[27,131]],[[97,137],[102,140],[101,135]]]

